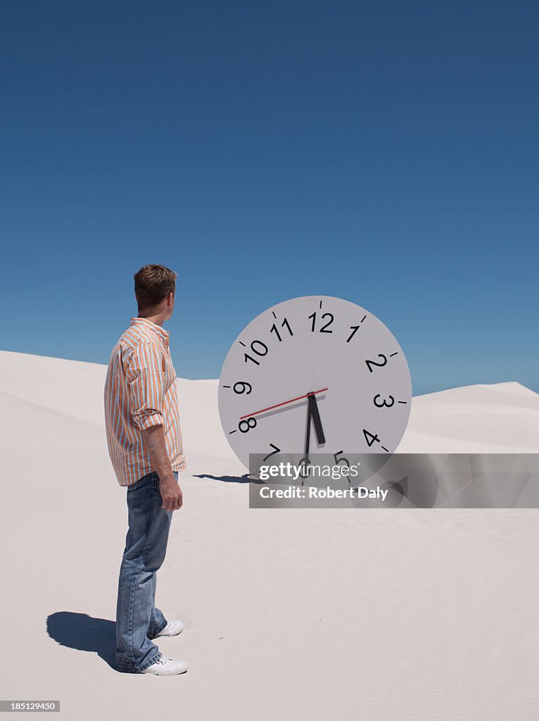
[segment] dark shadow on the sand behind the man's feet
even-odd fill
[[[47,631],[61,646],[97,653],[114,671],[116,668],[116,623],[88,614],[58,611],[47,619]]]

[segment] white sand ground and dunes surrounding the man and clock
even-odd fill
[[[157,584],[187,626],[159,646],[190,670],[113,670],[127,508],[105,373],[0,352],[2,698],[69,721],[538,718],[539,510],[249,509],[216,380],[178,381],[189,468]],[[416,397],[398,451],[539,452],[539,395]]]

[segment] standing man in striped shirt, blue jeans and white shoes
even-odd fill
[[[178,472],[186,469],[176,371],[163,327],[174,311],[177,273],[145,265],[134,278],[138,316],[112,350],[104,386],[107,445],[117,481],[127,487],[129,521],[118,581],[116,665],[127,673],[172,676],[187,671],[187,663],[166,658],[152,639],[183,629],[155,605],[172,513],[182,507]]]

